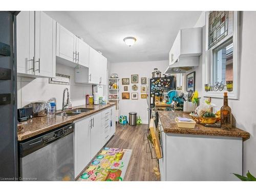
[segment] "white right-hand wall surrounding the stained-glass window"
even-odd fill
[[[204,14],[204,13],[202,13]],[[200,27],[205,25],[205,15],[200,16],[197,25]],[[250,139],[244,142],[244,174],[247,170],[256,175],[256,89],[254,86],[255,72],[256,72],[256,26],[253,23],[256,22],[256,12],[244,11],[241,14],[241,45],[240,45],[240,92],[239,99],[229,99],[228,104],[232,109],[233,125],[239,127],[250,133]],[[205,34],[203,34],[205,36]],[[205,44],[205,40],[204,40]],[[205,46],[204,46],[205,47]],[[204,48],[203,47],[203,48]],[[195,69],[196,79],[199,74],[204,73],[202,71],[202,63],[205,62],[205,52],[200,56],[200,65]],[[200,84],[196,83],[196,89],[203,90],[203,79],[201,75],[201,88]],[[202,96],[201,92],[200,96]],[[205,98],[206,99],[206,98]],[[223,105],[223,99],[212,98],[212,103],[217,105],[215,111],[220,110]]]

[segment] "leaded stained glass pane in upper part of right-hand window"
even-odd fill
[[[233,12],[210,11],[208,24],[208,49],[210,49],[233,32]]]

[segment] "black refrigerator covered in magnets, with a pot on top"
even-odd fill
[[[147,104],[148,104],[148,124],[150,123],[152,112],[155,108],[156,101],[162,101],[164,93],[168,93],[170,90],[175,90],[175,78],[174,76],[148,78],[147,87]],[[158,117],[156,115],[155,124],[158,124]]]

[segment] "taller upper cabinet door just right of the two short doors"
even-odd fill
[[[100,81],[100,54],[90,47],[89,49],[89,82],[99,84]]]

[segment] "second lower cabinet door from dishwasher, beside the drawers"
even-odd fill
[[[103,146],[103,129],[101,126],[101,113],[92,117],[91,129],[91,159],[100,151]]]

